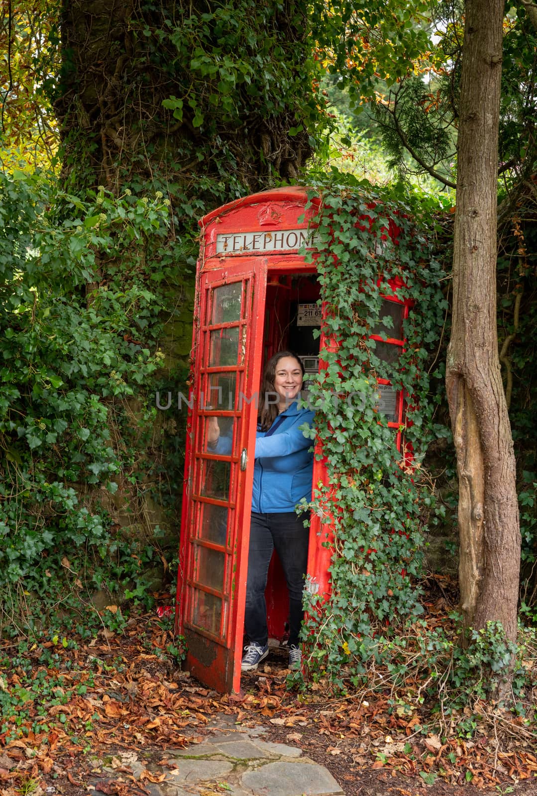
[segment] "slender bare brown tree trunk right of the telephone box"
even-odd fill
[[[496,332],[496,193],[504,0],[467,0],[458,136],[453,330],[446,387],[457,451],[465,627],[516,638],[520,532]]]

